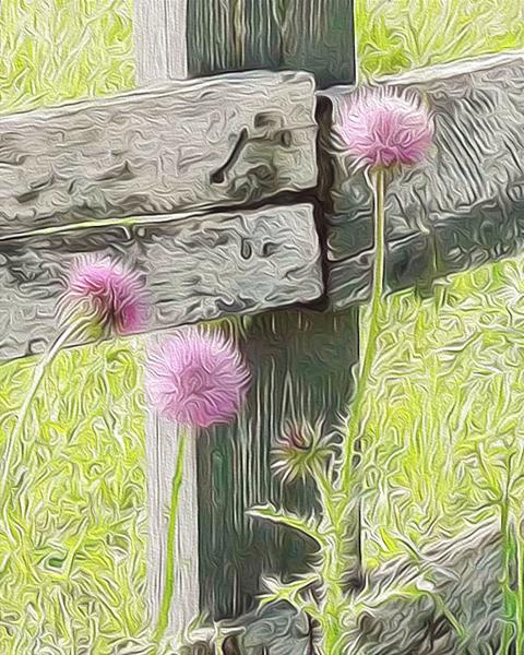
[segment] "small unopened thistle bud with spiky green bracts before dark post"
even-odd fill
[[[274,472],[285,483],[314,476],[325,467],[333,453],[322,437],[322,421],[317,425],[289,422],[272,450]]]

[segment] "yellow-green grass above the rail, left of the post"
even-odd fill
[[[133,86],[131,0],[2,0],[0,111]]]

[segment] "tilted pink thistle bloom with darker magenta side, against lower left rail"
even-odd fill
[[[144,326],[145,290],[140,275],[108,257],[87,257],[71,269],[67,301],[87,301],[97,320],[117,334]]]

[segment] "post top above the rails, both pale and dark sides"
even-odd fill
[[[355,80],[352,0],[134,0],[136,75],[151,81],[301,69]]]

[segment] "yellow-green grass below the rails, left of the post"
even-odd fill
[[[62,353],[43,381],[0,536],[2,654],[104,655],[146,628],[141,358],[138,341]],[[34,364],[0,368],[0,448]]]

